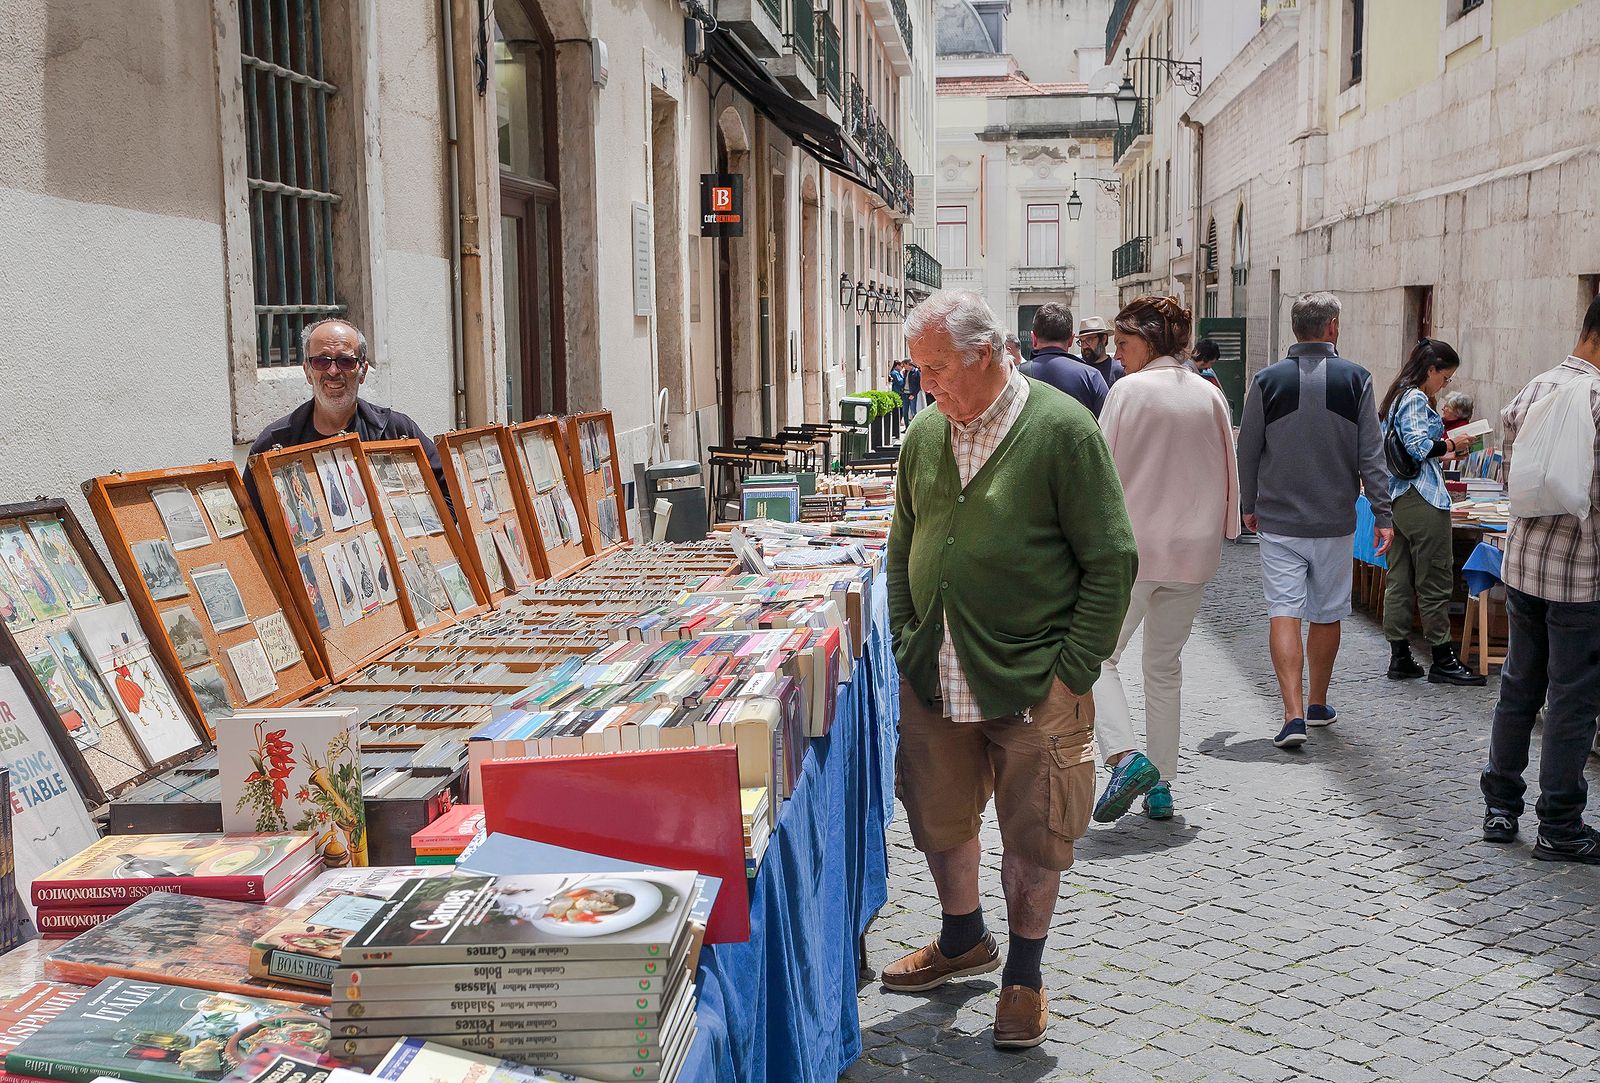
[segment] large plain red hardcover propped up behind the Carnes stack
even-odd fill
[[[728,745],[490,760],[483,827],[619,861],[693,869],[723,885],[746,881],[739,753]],[[747,939],[749,893],[725,889],[706,941]]]

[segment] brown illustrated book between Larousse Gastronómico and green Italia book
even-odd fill
[[[45,958],[45,976],[80,985],[128,977],[326,1005],[326,993],[250,973],[256,939],[282,920],[283,910],[254,902],[150,894],[64,941]]]

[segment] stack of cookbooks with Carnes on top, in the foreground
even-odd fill
[[[693,872],[416,880],[355,934],[330,1053],[402,1037],[592,1080],[672,1080],[694,1038]]]

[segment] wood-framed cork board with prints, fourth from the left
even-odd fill
[[[467,576],[472,605],[454,609],[437,569],[472,568],[454,514],[438,488],[419,440],[373,440],[362,445],[371,466],[374,499],[382,504],[389,539],[398,547],[400,581],[406,584],[418,632],[429,633],[488,608],[477,574]],[[426,560],[424,560],[426,555]]]

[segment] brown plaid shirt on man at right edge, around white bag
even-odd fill
[[[1547,373],[1534,376],[1501,411],[1507,469],[1517,432],[1533,403],[1573,379],[1590,378],[1590,402],[1600,426],[1600,370],[1581,357],[1568,357]],[[1600,432],[1595,437],[1600,453]],[[1576,515],[1512,517],[1506,534],[1506,585],[1546,601],[1600,601],[1600,472],[1589,490],[1589,518]]]

